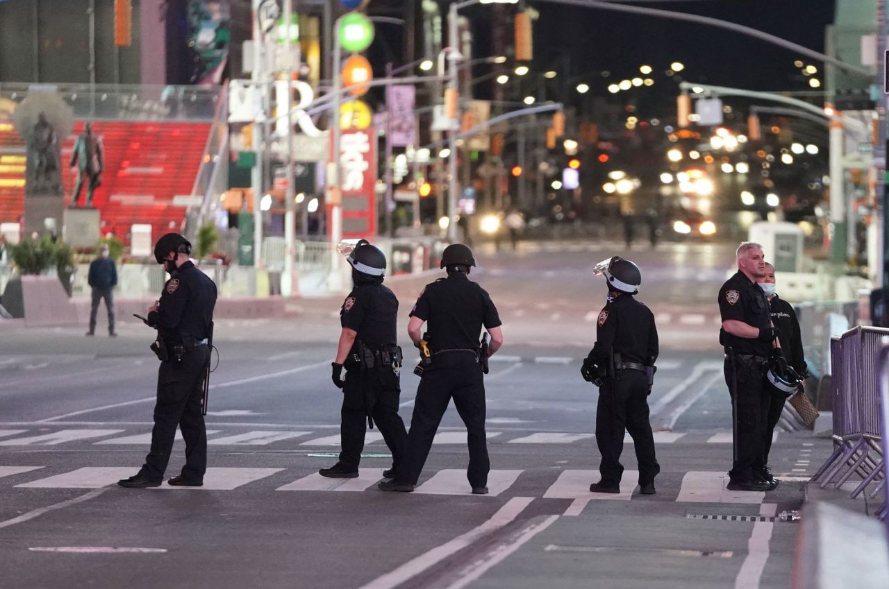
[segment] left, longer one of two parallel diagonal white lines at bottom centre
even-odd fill
[[[443,545],[436,546],[426,553],[420,554],[420,556],[405,562],[385,575],[373,579],[359,589],[393,589],[397,585],[403,584],[408,579],[416,577],[424,570],[435,566],[438,562],[444,561],[453,553],[461,551],[478,539],[514,521],[518,514],[522,513],[525,507],[530,505],[532,501],[533,497],[513,497],[509,499],[506,505],[503,505],[497,513],[493,514],[490,520],[485,521],[482,525],[470,529],[468,532],[445,542]]]

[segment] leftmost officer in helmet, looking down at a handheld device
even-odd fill
[[[161,360],[157,372],[155,426],[151,450],[138,474],[117,482],[121,487],[157,487],[164,480],[179,426],[185,439],[185,466],[171,485],[200,487],[207,467],[207,433],[202,406],[204,378],[210,362],[216,285],[188,259],[191,243],[168,233],[157,240],[155,259],[171,275],[161,298],[148,309],[156,328],[152,349]]]

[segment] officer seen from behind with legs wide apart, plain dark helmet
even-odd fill
[[[490,295],[469,280],[469,268],[476,265],[472,251],[453,243],[442,253],[441,267],[447,278],[427,284],[411,311],[407,333],[414,345],[428,346],[431,362],[422,371],[413,405],[407,450],[392,481],[383,481],[380,490],[410,492],[420,478],[438,424],[448,403],[453,404],[466,424],[469,444],[467,478],[472,492],[488,492],[487,440],[485,436],[485,381],[478,337],[482,326],[491,336],[487,356],[503,343],[500,315]],[[428,332],[420,329],[428,322]],[[428,342],[428,343],[427,343]]]

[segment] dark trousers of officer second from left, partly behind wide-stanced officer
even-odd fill
[[[404,457],[404,443],[407,441],[404,421],[398,415],[398,402],[401,399],[398,375],[388,366],[370,370],[362,370],[360,364],[347,367],[342,394],[340,464],[348,469],[358,467],[361,450],[364,450],[369,408],[373,423],[392,451],[392,464],[397,468]]]

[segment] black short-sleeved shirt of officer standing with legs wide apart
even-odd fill
[[[478,349],[482,325],[487,329],[501,325],[491,296],[460,272],[427,284],[411,316],[428,322],[433,352]]]

